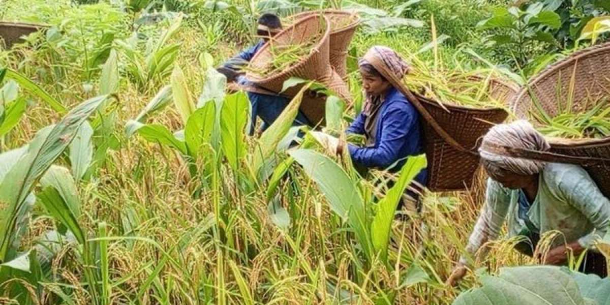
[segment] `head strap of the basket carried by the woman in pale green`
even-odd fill
[[[517,157],[544,162],[572,163],[583,166],[589,166],[600,162],[610,162],[610,159],[602,157],[569,156],[567,154],[558,154],[557,152],[537,151],[534,149],[516,148],[493,143],[484,143],[481,145],[481,148],[506,157]]]

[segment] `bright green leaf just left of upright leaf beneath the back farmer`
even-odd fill
[[[188,154],[198,158],[201,154],[201,145],[212,142],[212,132],[214,131],[216,120],[216,104],[207,103],[205,106],[195,110],[188,117],[187,125],[184,128],[184,140],[187,145]]]

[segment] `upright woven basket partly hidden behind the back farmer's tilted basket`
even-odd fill
[[[329,60],[331,66],[343,79],[347,77],[347,54],[351,38],[354,36],[360,18],[356,13],[345,12],[343,10],[315,10],[310,12],[298,13],[290,17],[291,21],[300,20],[312,15],[324,15],[331,22]],[[333,24],[344,23],[345,26],[335,28]]]

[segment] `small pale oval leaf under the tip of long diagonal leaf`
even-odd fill
[[[70,164],[72,174],[76,181],[80,181],[87,173],[91,160],[93,160],[93,128],[89,122],[83,123],[70,143]]]

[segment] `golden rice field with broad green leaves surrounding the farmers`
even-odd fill
[[[414,66],[407,85],[442,102],[508,108],[506,96],[492,95],[493,80],[518,87],[527,78],[443,44],[439,20],[415,30],[403,17],[416,8],[356,4],[385,27],[356,33],[353,105],[327,112],[329,126],[345,129],[362,109],[355,62],[373,45],[399,52]],[[423,212],[398,221],[400,187],[425,158],[407,163],[390,188],[384,176],[362,177],[349,159],[325,156],[310,135],[289,149],[300,98],[248,136],[247,95],[226,93],[214,67],[256,41],[255,16],[311,5],[0,1],[0,20],[49,26],[0,47],[0,303],[451,304],[484,271],[536,264],[512,251],[517,240],[500,239],[458,287],[445,285],[483,204],[483,173],[470,190],[425,193]],[[310,47],[292,46],[275,68]],[[607,136],[608,109],[566,113],[540,130]]]

